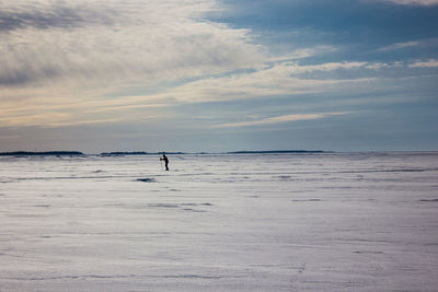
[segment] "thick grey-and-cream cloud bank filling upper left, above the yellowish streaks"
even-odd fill
[[[252,67],[247,30],[203,20],[210,0],[9,1],[0,13],[0,85],[119,86]]]

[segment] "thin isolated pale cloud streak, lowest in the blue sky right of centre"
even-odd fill
[[[263,119],[250,120],[250,121],[220,124],[220,125],[214,126],[214,128],[262,126],[262,125],[272,125],[272,124],[280,124],[280,122],[297,121],[297,120],[321,119],[321,118],[326,118],[326,117],[331,117],[331,116],[339,116],[339,115],[347,115],[347,114],[351,114],[351,113],[338,112],[338,113],[283,115],[283,116],[269,117],[269,118],[263,118]]]

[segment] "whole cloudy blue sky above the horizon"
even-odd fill
[[[0,0],[0,152],[438,150],[438,0]]]

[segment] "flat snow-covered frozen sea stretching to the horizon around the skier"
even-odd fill
[[[0,291],[438,291],[438,152],[0,157]]]

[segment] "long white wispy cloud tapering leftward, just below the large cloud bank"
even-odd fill
[[[309,74],[355,70],[365,68],[367,65],[367,62],[328,62],[300,66],[296,62],[279,62],[251,72],[210,77],[187,82],[150,97],[174,100],[177,103],[203,103],[336,92],[348,86],[358,89],[360,84],[367,84],[374,79],[345,79],[333,75],[316,79]]]

